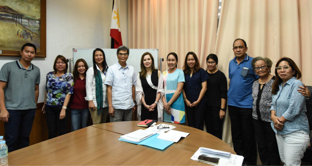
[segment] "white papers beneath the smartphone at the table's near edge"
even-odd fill
[[[220,150],[214,150],[209,148],[200,147],[195,154],[191,157],[192,160],[198,161],[200,155],[207,155],[209,157],[219,158],[218,165],[241,165],[244,157],[230,152],[224,152]],[[216,164],[213,164],[216,165]]]

